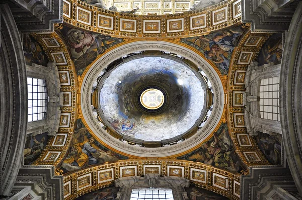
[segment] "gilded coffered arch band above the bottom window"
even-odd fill
[[[127,180],[125,185],[129,184],[128,186],[140,179],[145,182],[145,178],[137,176],[145,175],[148,179],[149,174],[146,172],[153,175],[158,173],[158,176],[164,176],[160,177],[163,180],[190,180],[190,184],[197,187],[213,191],[229,199],[239,199],[239,173],[232,173],[203,163],[171,159],[120,160],[69,173],[64,176],[64,197],[66,200],[75,199],[86,193],[108,187],[114,183],[113,180],[117,181],[117,186],[122,186],[124,179]],[[149,182],[147,184],[149,185]]]

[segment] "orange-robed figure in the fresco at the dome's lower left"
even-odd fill
[[[95,142],[94,138],[90,138],[89,141],[84,141],[74,145],[76,154],[66,159],[64,162],[69,163],[72,166],[78,165],[82,167],[86,164],[92,165],[97,163],[97,158],[99,154],[97,152],[103,152],[101,149],[95,149],[91,145]],[[97,154],[97,156],[96,156]]]

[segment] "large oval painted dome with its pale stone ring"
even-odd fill
[[[98,142],[126,155],[181,154],[204,141],[221,122],[225,104],[219,74],[202,56],[180,45],[125,44],[84,72],[82,122]],[[160,91],[164,102],[159,101],[158,108],[141,104],[148,89]]]

